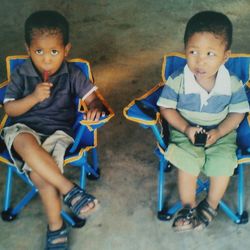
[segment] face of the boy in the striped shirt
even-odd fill
[[[198,83],[214,83],[219,67],[230,56],[222,36],[209,32],[194,33],[187,42],[187,64]]]

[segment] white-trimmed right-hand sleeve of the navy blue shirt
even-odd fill
[[[72,76],[71,84],[73,95],[84,100],[97,89],[94,83],[87,79],[80,69],[75,68]]]

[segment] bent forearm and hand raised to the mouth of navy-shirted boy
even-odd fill
[[[11,117],[19,116],[29,111],[37,103],[42,102],[50,96],[52,83],[43,82],[37,85],[35,91],[30,95],[9,101],[4,104],[4,110]]]

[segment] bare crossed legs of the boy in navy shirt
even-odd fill
[[[37,181],[38,187],[40,187],[40,195],[42,201],[45,202],[44,205],[49,218],[49,223],[51,225],[54,224],[52,221],[54,215],[50,214],[50,211],[47,210],[47,208],[50,209],[50,206],[47,206],[46,199],[59,199],[58,191],[63,195],[67,194],[74,187],[73,183],[64,177],[54,159],[37,143],[36,138],[32,134],[21,133],[16,136],[13,142],[13,147],[23,161],[32,169],[32,172],[34,172],[32,177]],[[48,197],[47,194],[50,197]],[[77,201],[78,198],[74,199],[72,204]],[[57,211],[59,210],[59,203],[57,203],[57,206],[55,216],[58,216]],[[81,213],[84,216],[84,213],[92,210],[94,207],[95,203],[89,202],[86,206],[81,208]],[[52,210],[54,210],[54,208]],[[55,221],[55,227],[57,227],[58,217],[55,218]]]

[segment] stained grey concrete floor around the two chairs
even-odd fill
[[[81,250],[245,250],[250,247],[250,223],[236,225],[222,212],[202,232],[176,234],[171,222],[156,219],[157,159],[153,136],[128,122],[122,109],[161,80],[162,55],[182,51],[185,23],[201,10],[222,11],[234,24],[233,52],[250,52],[249,0],[1,0],[0,80],[4,58],[25,53],[23,23],[33,11],[57,9],[71,24],[71,57],[92,65],[96,84],[116,113],[99,132],[102,177],[88,182],[101,209],[82,229],[71,230],[71,249]],[[143,138],[143,140],[140,140]],[[0,199],[6,170],[1,167]],[[247,172],[249,174],[249,171]],[[73,180],[78,173],[67,175]],[[15,182],[20,195],[25,187]],[[250,210],[249,182],[246,208]],[[176,198],[176,172],[167,182],[170,203]],[[232,179],[225,199],[235,206]],[[11,223],[0,220],[0,250],[43,249],[46,220],[35,198]]]

